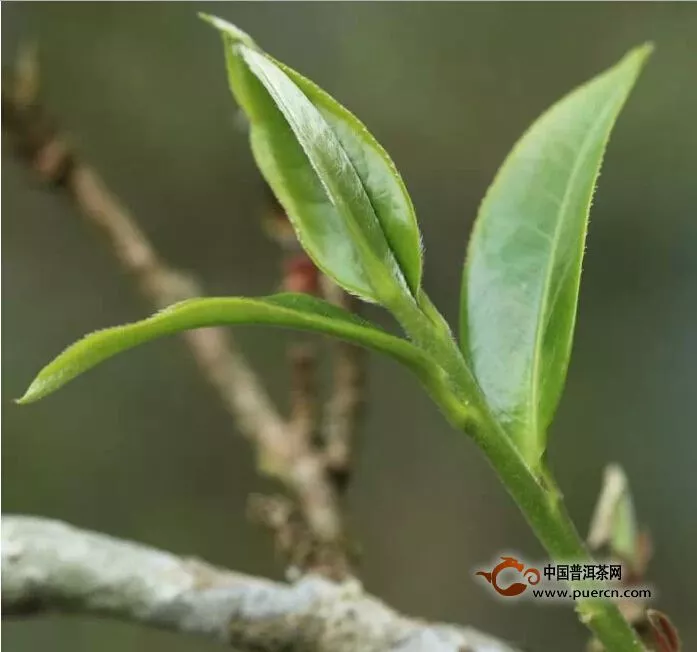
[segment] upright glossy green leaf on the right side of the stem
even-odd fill
[[[650,51],[631,51],[532,125],[489,188],[470,240],[461,346],[532,468],[566,377],[603,152]]]

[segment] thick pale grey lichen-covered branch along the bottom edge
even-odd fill
[[[3,518],[2,576],[4,617],[106,616],[239,652],[516,652],[398,614],[354,580],[272,582],[29,516]]]

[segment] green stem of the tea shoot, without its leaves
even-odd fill
[[[440,364],[443,378],[423,379],[448,420],[472,436],[496,470],[533,532],[554,562],[590,564],[593,559],[564,506],[551,475],[535,474],[511,438],[491,414],[445,321],[427,297],[416,305],[400,305],[393,313],[414,342]],[[579,619],[607,652],[644,652],[636,632],[608,600],[582,598],[576,602]]]

